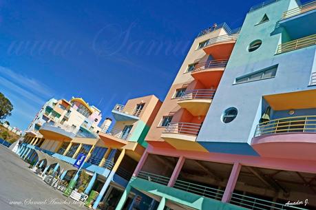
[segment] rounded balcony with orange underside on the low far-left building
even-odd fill
[[[39,132],[48,139],[71,140],[76,136],[78,129],[60,123],[44,123]]]

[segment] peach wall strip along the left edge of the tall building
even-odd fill
[[[220,28],[209,34],[204,34],[203,36],[200,36],[193,41],[191,48],[185,58],[185,61],[183,61],[180,67],[180,70],[175,80],[173,81],[173,84],[171,85],[169,89],[169,92],[165,98],[165,101],[162,103],[162,106],[160,107],[160,110],[153,122],[151,129],[149,129],[146,140],[149,140],[149,141],[160,140],[160,136],[162,132],[165,130],[165,127],[159,126],[162,120],[162,116],[173,115],[173,114],[176,114],[176,112],[180,110],[180,106],[177,103],[178,99],[173,98],[177,89],[182,88],[187,85],[189,85],[189,87],[187,87],[187,90],[190,90],[190,89],[192,90],[196,88],[209,88],[209,87],[202,86],[202,84],[199,84],[196,81],[191,83],[194,79],[190,73],[186,73],[187,67],[191,63],[196,63],[199,59],[202,59],[202,60],[207,59],[207,54],[204,52],[204,50],[202,49],[197,50],[199,43],[201,43],[202,41],[206,41],[207,39],[211,39],[216,36],[220,36],[224,34],[227,34],[227,32],[224,29]],[[180,113],[178,115],[181,116]],[[181,119],[181,120],[185,120],[185,122],[190,122],[190,119],[189,119],[190,117],[191,116],[188,116],[188,118]],[[180,119],[174,116],[172,121],[176,122],[176,120],[180,120]]]

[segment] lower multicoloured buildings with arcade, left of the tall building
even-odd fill
[[[63,103],[63,100],[52,101],[52,110]],[[34,171],[50,185],[54,186],[54,177],[59,180],[56,188],[65,196],[83,200],[93,209],[115,207],[147,147],[145,136],[161,101],[151,95],[130,99],[126,105],[116,105],[112,110],[115,123],[106,118],[96,132],[94,129],[101,120],[101,112],[96,107],[88,107],[82,98],[72,98],[67,105],[63,112],[56,109],[61,121],[55,120],[58,115],[54,114],[53,123],[47,120],[38,133],[27,132],[17,154],[34,165]],[[63,120],[67,113],[70,113],[68,120]],[[48,114],[48,118],[50,116]],[[72,165],[82,154],[86,158],[78,172]],[[135,206],[134,200],[140,195],[131,193],[126,207]],[[144,209],[151,198],[143,201],[137,205]]]

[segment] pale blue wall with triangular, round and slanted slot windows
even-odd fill
[[[310,72],[315,61],[315,45],[277,54],[282,33],[271,34],[282,12],[288,10],[291,1],[277,1],[269,6],[247,14],[227,68],[222,76],[212,105],[198,136],[198,142],[209,151],[253,154],[248,147],[255,126],[262,116],[262,96],[268,94],[310,90]],[[270,21],[256,25],[267,14]],[[262,40],[260,48],[248,52],[249,43]],[[233,84],[236,77],[278,64],[275,78],[249,83]],[[228,107],[236,107],[238,116],[231,123],[222,123],[222,113]],[[241,143],[241,144],[238,144]],[[224,145],[235,147],[225,150]],[[239,147],[240,145],[240,147]]]

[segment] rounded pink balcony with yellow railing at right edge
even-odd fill
[[[257,125],[251,145],[260,156],[316,160],[315,137],[316,116],[294,116]]]

